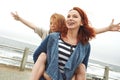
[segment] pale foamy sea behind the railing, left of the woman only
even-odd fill
[[[0,63],[8,65],[20,66],[25,48],[29,48],[27,62],[33,63],[33,52],[37,45],[17,41],[6,36],[0,36]],[[14,61],[16,60],[16,61]],[[31,68],[32,64],[27,64],[26,67]]]

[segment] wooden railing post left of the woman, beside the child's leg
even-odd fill
[[[21,65],[20,65],[20,71],[24,71],[24,69],[25,69],[25,64],[27,62],[28,53],[29,53],[29,48],[25,48],[23,57],[22,57],[22,61],[21,61]]]

